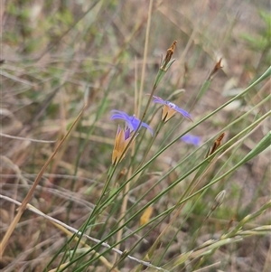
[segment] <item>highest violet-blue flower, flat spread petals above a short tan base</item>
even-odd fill
[[[165,101],[162,98],[158,98],[158,97],[153,97],[153,98],[154,98],[154,103],[159,103],[164,105],[163,113],[162,113],[162,120],[164,122],[167,122],[169,119],[171,119],[175,115],[176,112],[181,113],[183,117],[186,117],[192,121],[191,115],[184,109],[179,108],[172,102]]]

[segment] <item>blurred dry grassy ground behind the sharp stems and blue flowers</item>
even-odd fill
[[[152,91],[161,54],[165,54],[176,40],[173,55],[176,61],[155,95],[174,99],[189,111],[194,123],[207,116],[257,80],[270,65],[268,8],[268,1],[154,0],[148,21],[149,1],[143,0],[2,1],[1,195],[23,202],[42,166],[87,104],[79,122],[42,175],[30,201],[44,214],[79,229],[98,202],[111,164],[117,122],[110,120],[110,110],[124,110],[132,115],[138,112],[137,107],[146,104],[149,97],[145,94]],[[148,22],[150,32],[145,54]],[[211,80],[208,91],[198,99],[204,80],[220,58],[222,69]],[[145,75],[142,76],[144,67]],[[203,144],[233,124],[225,129],[223,143],[226,143],[257,117],[270,111],[270,99],[260,104],[270,95],[270,87],[270,79],[261,82],[247,96],[235,100],[195,127],[192,133],[201,136]],[[137,99],[138,103],[135,102],[135,89],[143,89],[144,95]],[[234,125],[238,117],[254,107],[251,114]],[[155,116],[147,114],[146,120],[151,127],[158,124],[158,113]],[[165,132],[157,136],[146,160],[178,136],[181,129],[185,131],[191,126],[180,119],[173,117],[171,125],[164,127]],[[269,130],[270,117],[269,122],[267,119],[259,124],[246,141],[238,143],[238,149],[211,165],[196,189],[200,190],[217,174],[238,164]],[[135,144],[141,142],[140,151],[147,148],[142,139],[150,142],[152,136],[147,131],[140,132],[135,140]],[[201,162],[207,153],[207,145],[192,160],[180,164],[163,182],[157,183],[164,173],[179,165],[182,158],[194,150],[193,145],[180,140],[148,165],[145,173],[129,187],[126,218]],[[143,154],[136,153],[134,170]],[[125,182],[126,168],[130,169],[129,164],[122,162],[112,191]],[[146,259],[146,252],[167,228],[154,255],[148,259],[156,267],[166,266],[192,249],[192,245],[196,247],[206,240],[217,239],[268,202],[270,174],[269,148],[219,184],[214,184],[197,201],[187,202],[169,228],[172,214],[159,224],[154,221],[137,231],[117,247],[122,251],[132,249],[140,240],[129,254]],[[189,175],[154,202],[151,216],[154,218],[178,202],[192,179]],[[150,192],[137,202],[148,190]],[[224,202],[220,210],[206,220],[212,202],[221,190],[226,190]],[[18,206],[4,198],[0,199],[0,205],[0,238],[3,239]],[[122,192],[114,205],[108,204],[99,214],[97,224],[91,228],[91,237],[104,239],[111,230],[117,229],[123,205]],[[131,207],[133,209],[129,210]],[[244,230],[270,225],[270,217],[271,211],[267,209],[246,224]],[[137,230],[141,220],[142,217],[137,216],[128,222],[122,237]],[[195,233],[196,239],[192,241]],[[26,210],[0,259],[1,271],[53,271],[51,269],[58,267],[61,258],[55,259],[48,270],[43,269],[68,239],[69,235],[49,220]],[[117,236],[112,236],[107,243],[114,244],[116,240]],[[94,242],[89,242],[90,247],[93,245]],[[73,249],[74,243],[70,247]],[[100,254],[104,250],[103,247],[96,249]],[[103,256],[109,264],[120,258],[110,250]],[[93,257],[91,253],[86,259]],[[185,264],[173,270],[166,268],[170,271],[267,272],[271,267],[270,232],[267,235],[250,233],[246,239],[214,250],[209,258],[202,258],[202,262],[197,258]],[[138,265],[134,259],[124,256],[111,269],[99,258],[81,271],[136,271]],[[67,271],[73,269],[69,267]],[[138,267],[138,271],[144,269],[155,271],[151,267]]]

